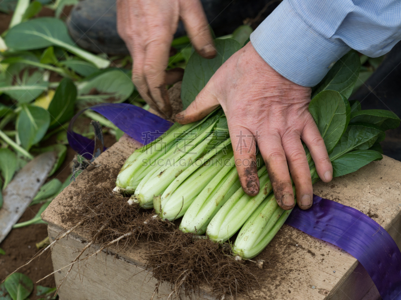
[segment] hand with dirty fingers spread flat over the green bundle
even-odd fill
[[[256,141],[278,204],[284,209],[295,205],[291,172],[298,204],[307,209],[312,205],[313,191],[301,139],[320,178],[328,182],[333,173],[323,138],[308,111],[310,94],[310,87],[295,84],[271,68],[249,42],[217,70],[176,117],[183,124],[192,122],[221,104],[245,192],[256,195],[260,188],[256,165],[251,165],[256,161]]]

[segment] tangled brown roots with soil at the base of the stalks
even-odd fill
[[[147,249],[144,253],[147,268],[158,280],[155,293],[163,281],[172,286],[169,298],[173,294],[178,298],[182,287],[189,296],[199,291],[199,286],[210,288],[217,296],[236,296],[248,293],[258,284],[249,262],[236,260],[228,243],[184,233],[177,224],[162,220],[137,204],[128,204],[128,197],[109,188],[93,187],[82,200],[83,205],[76,211],[71,210],[67,217],[90,238],[72,261],[69,271],[75,262],[111,245],[118,251],[141,242]],[[80,257],[92,243],[100,244],[99,250]]]

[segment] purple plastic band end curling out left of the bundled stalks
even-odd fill
[[[97,104],[92,109],[120,128],[137,141],[147,144],[165,132],[172,123],[135,105],[128,103],[105,103]],[[79,111],[71,120],[67,138],[70,146],[85,158],[92,158],[95,142],[72,130],[74,121],[86,109]]]

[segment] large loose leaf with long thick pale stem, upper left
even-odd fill
[[[99,68],[110,61],[77,47],[68,35],[65,23],[57,18],[35,18],[11,28],[5,37],[6,44],[14,50],[33,50],[59,46],[75,55],[93,62]]]

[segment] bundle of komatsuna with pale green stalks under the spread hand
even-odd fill
[[[350,66],[351,72],[346,69]],[[309,112],[324,139],[334,177],[381,159],[384,131],[400,122],[391,111],[362,110],[358,101],[347,99],[359,67],[358,55],[350,52],[312,89]],[[315,183],[319,177],[304,148]],[[233,252],[252,258],[292,211],[279,207],[259,154],[257,161],[260,192],[249,196],[238,178],[226,116],[218,108],[200,121],[175,123],[154,142],[135,150],[122,166],[115,190],[131,194],[130,203],[154,207],[163,220],[182,217],[179,228],[185,232],[226,241],[239,231]]]

